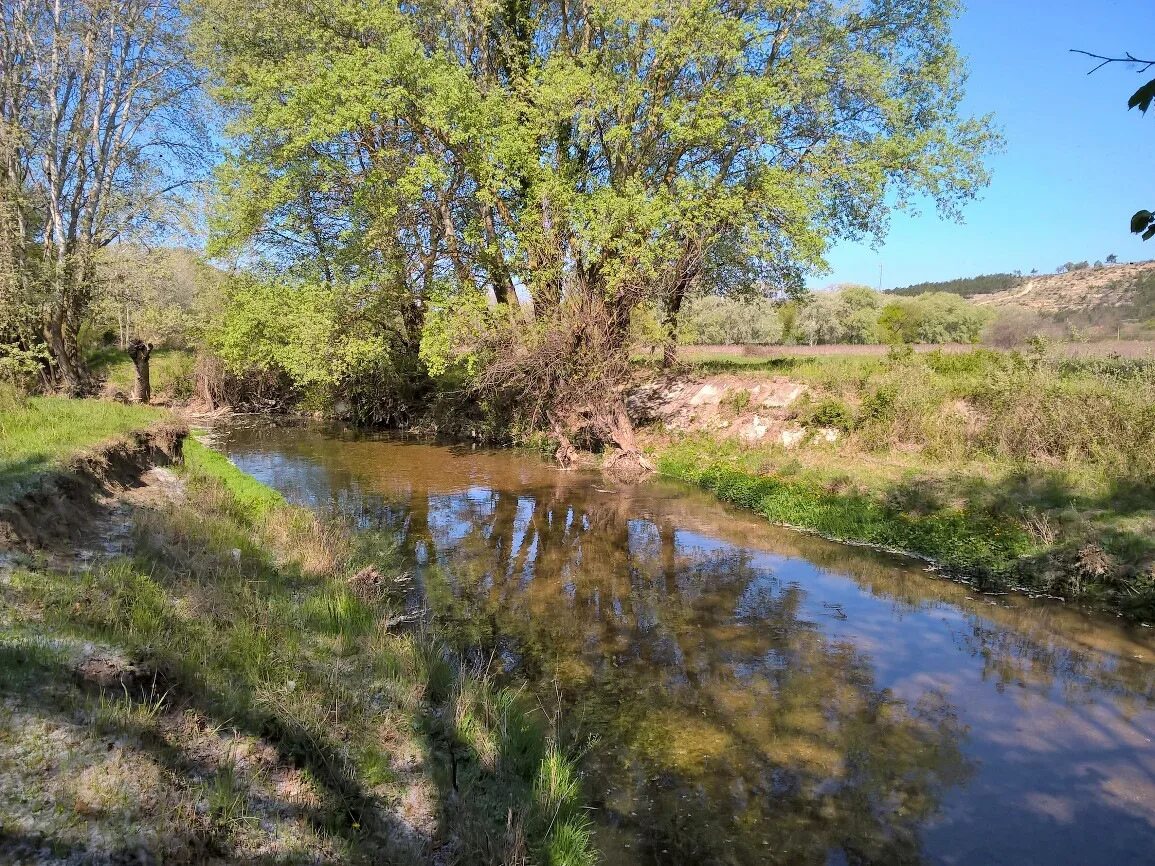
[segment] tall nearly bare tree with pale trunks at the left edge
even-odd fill
[[[0,341],[39,343],[52,385],[84,387],[97,251],[186,179],[196,87],[174,0],[0,5]]]

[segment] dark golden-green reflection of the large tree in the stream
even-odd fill
[[[415,502],[439,574],[435,610],[467,641],[494,627],[523,670],[556,678],[605,814],[662,863],[918,859],[917,828],[966,764],[933,696],[904,706],[869,660],[799,615],[804,592],[746,552],[686,550],[631,520],[628,495],[562,487]],[[452,515],[452,520],[446,520]]]

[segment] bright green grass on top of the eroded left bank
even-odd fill
[[[165,417],[148,406],[0,395],[0,501],[18,497],[76,454]]]

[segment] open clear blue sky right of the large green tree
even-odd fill
[[[1087,75],[1097,54],[1155,57],[1152,0],[963,0],[955,44],[970,73],[962,109],[994,114],[1005,150],[988,163],[991,185],[963,210],[963,224],[933,204],[895,214],[885,245],[842,244],[830,274],[811,281],[886,289],[1067,261],[1155,259],[1127,222],[1155,210],[1155,110],[1127,98],[1155,79],[1112,65]]]

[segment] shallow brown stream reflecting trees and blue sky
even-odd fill
[[[1155,859],[1148,629],[517,451],[310,427],[222,447],[395,530],[460,640],[596,738],[606,863]]]

